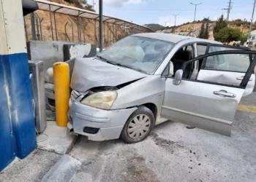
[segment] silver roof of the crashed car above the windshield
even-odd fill
[[[143,36],[143,37],[147,37],[147,38],[151,38],[151,39],[170,41],[173,43],[177,43],[178,41],[183,41],[186,39],[193,39],[195,41],[201,41],[201,42],[203,41],[206,43],[221,44],[219,41],[211,41],[208,39],[199,39],[199,38],[195,38],[192,36],[180,36],[180,35],[176,35],[176,34],[172,34],[172,33],[138,33],[138,34],[134,34],[132,36]]]

